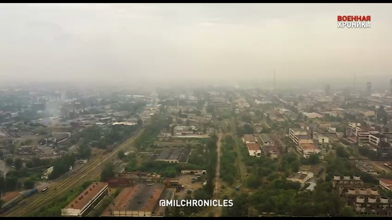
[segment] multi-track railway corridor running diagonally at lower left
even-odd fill
[[[67,177],[59,182],[56,182],[51,186],[51,191],[47,193],[38,193],[37,195],[29,198],[28,205],[24,207],[18,207],[14,210],[11,209],[9,213],[5,213],[5,216],[26,216],[34,211],[39,210],[40,207],[49,204],[56,198],[60,197],[69,189],[73,188],[74,186],[78,186],[85,182],[86,180],[93,179],[100,175],[100,168],[102,164],[108,160],[111,160],[117,156],[118,151],[122,150],[125,146],[134,142],[134,140],[143,132],[143,129],[139,130],[136,135],[132,137],[128,137],[124,141],[114,145],[110,148],[110,152],[101,153],[100,155],[96,156],[93,161],[87,163],[87,166],[83,166],[80,168],[76,173],[72,176]],[[56,189],[56,190],[54,190]]]

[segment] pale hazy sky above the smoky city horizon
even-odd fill
[[[1,4],[0,78],[392,77],[391,4]],[[337,16],[371,15],[370,29]],[[387,80],[389,82],[389,79]]]

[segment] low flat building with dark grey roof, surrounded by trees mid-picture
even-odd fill
[[[163,161],[168,163],[183,163],[186,164],[191,154],[190,149],[185,148],[164,148],[157,150],[151,157],[150,161]]]

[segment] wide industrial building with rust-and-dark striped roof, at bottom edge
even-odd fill
[[[159,206],[159,200],[174,198],[175,189],[165,188],[164,184],[137,184],[124,188],[114,198],[102,216],[105,217],[151,217],[164,216],[165,207]]]

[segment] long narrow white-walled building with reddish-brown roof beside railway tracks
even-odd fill
[[[68,206],[61,209],[62,216],[84,217],[107,195],[108,184],[93,182],[85,191],[80,193]]]

